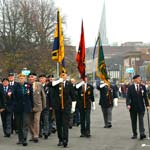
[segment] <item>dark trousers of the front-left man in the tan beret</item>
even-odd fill
[[[18,140],[19,142],[26,142],[29,128],[29,112],[16,113],[16,122],[18,127]]]

